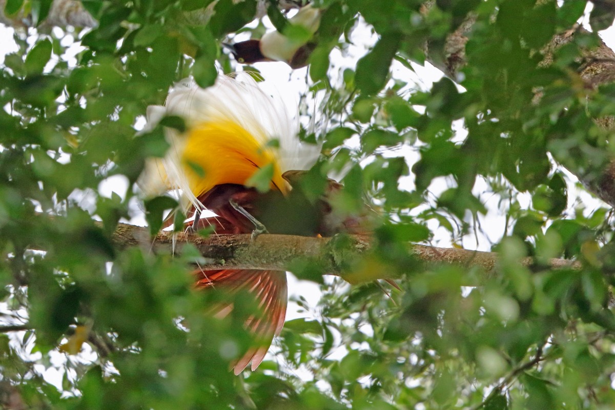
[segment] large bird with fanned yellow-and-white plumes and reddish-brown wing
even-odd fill
[[[248,179],[268,168],[270,195],[283,198],[290,185],[282,172],[309,168],[320,153],[319,146],[298,140],[298,114],[289,112],[289,106],[292,104],[264,92],[263,85],[248,74],[220,76],[208,89],[189,80],[175,85],[165,106],[148,108],[148,128],[164,116],[180,116],[186,130],[165,128],[170,148],[162,159],[146,163],[139,181],[141,189],[148,196],[178,190],[186,213],[208,210],[218,215],[196,222],[210,224],[216,234],[252,232],[253,224],[239,213],[240,208],[231,206],[234,203],[247,212],[254,211],[260,194],[245,186]],[[263,315],[247,318],[246,325],[258,343],[237,361],[234,372],[239,374],[250,361],[256,369],[284,324],[286,273],[224,269],[197,270],[195,274],[199,287],[245,290],[255,296]],[[216,307],[217,315],[222,317],[231,309]]]

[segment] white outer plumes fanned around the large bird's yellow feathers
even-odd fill
[[[274,150],[274,154],[282,172],[308,169],[314,165],[320,146],[302,143],[298,139],[296,103],[289,104],[279,93],[265,90],[271,90],[270,85],[257,83],[249,74],[219,76],[215,84],[207,89],[198,87],[192,79],[175,84],[164,107],[148,108],[145,130],[156,127],[164,116],[180,116],[185,120],[188,131],[180,133],[173,128],[165,128],[170,148],[164,158],[151,159],[146,164],[139,179],[143,194],[153,196],[179,190],[183,207],[192,204],[203,208],[191,192],[186,177],[187,165],[181,158],[191,127],[208,122],[238,124],[262,146],[279,140],[279,149]]]

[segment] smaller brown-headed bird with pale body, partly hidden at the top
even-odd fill
[[[240,41],[224,44],[241,64],[260,61],[284,61],[292,68],[301,68],[308,64],[308,58],[315,48],[311,37],[319,28],[321,10],[308,4],[288,20],[295,30],[277,30],[263,35],[260,40]]]

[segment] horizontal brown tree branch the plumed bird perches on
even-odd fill
[[[293,261],[310,258],[318,264],[322,272],[331,275],[344,275],[347,261],[370,250],[370,240],[362,235],[351,235],[341,251],[333,246],[334,238],[315,238],[292,235],[264,234],[252,240],[250,235],[211,235],[208,238],[198,234],[175,234],[161,232],[152,240],[147,227],[119,224],[113,235],[113,242],[118,248],[141,246],[155,253],[181,253],[190,243],[206,259],[200,262],[204,269],[269,269],[286,270]],[[439,264],[458,264],[478,266],[486,272],[494,269],[498,254],[494,252],[469,251],[456,248],[438,248],[435,246],[408,244],[420,261]],[[174,248],[174,249],[173,249]],[[341,257],[343,253],[343,257]],[[533,258],[520,261],[523,266],[534,266]],[[578,269],[579,262],[566,259],[550,259],[552,268],[573,267]],[[383,272],[383,275],[386,272]],[[379,277],[370,277],[376,279]],[[384,278],[384,276],[382,277]]]

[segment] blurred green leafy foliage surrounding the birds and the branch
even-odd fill
[[[236,313],[212,318],[205,307],[221,296],[192,289],[196,250],[117,249],[111,235],[137,213],[145,159],[168,148],[161,127],[137,132],[148,105],[188,74],[207,87],[219,67],[240,69],[220,42],[262,31],[244,28],[256,1],[84,1],[96,28],[18,30],[0,71],[2,382],[32,408],[613,406],[613,220],[574,198],[579,186],[563,168],[598,178],[613,157],[609,131],[594,121],[615,114],[613,86],[586,87],[578,74],[597,34],[578,30],[549,47],[587,2],[434,3],[315,2],[326,11],[309,86],[323,97],[326,127],[306,135],[323,140],[314,172],[344,175],[344,210],[367,193],[386,216],[375,250],[350,266],[390,272],[402,291],[388,298],[375,283],[326,280],[317,306],[295,301],[306,318],[288,321],[279,354],[240,377],[228,368],[250,342],[239,318],[253,306],[239,295]],[[49,6],[9,0],[4,12],[30,7],[36,25]],[[469,12],[454,81],[408,84],[400,71],[441,63]],[[605,19],[595,7],[592,26]],[[350,49],[359,22],[378,39],[338,72],[331,50]],[[74,60],[73,39],[82,45]],[[103,194],[114,178],[125,188]],[[145,203],[153,231],[174,205]],[[485,218],[493,210],[496,223]],[[411,254],[408,242],[443,237],[453,246],[479,238],[498,265],[487,273]],[[520,264],[526,256],[536,264]],[[552,269],[550,258],[578,264]],[[322,283],[308,262],[295,270]],[[81,354],[66,353],[71,342]],[[43,377],[54,368],[62,392]]]

